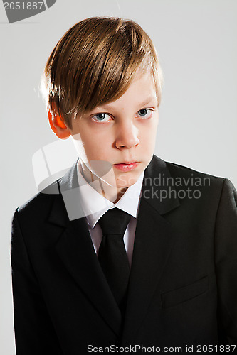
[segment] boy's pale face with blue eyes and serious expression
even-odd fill
[[[101,177],[102,167],[95,171],[95,166],[107,165],[110,171],[103,181],[118,191],[133,185],[152,159],[157,124],[157,96],[150,72],[133,81],[119,99],[73,120],[70,133],[85,178],[90,171]]]

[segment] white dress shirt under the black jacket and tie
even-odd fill
[[[93,185],[100,187],[99,183],[101,184],[101,182],[96,180],[95,182],[88,184],[80,171],[80,163],[78,163],[78,183],[80,186],[81,205],[88,222],[88,229],[90,237],[93,241],[95,253],[98,254],[100,242],[102,240],[102,229],[97,222],[108,209],[117,207],[131,215],[131,219],[127,225],[124,236],[125,249],[127,251],[127,258],[130,263],[130,267],[132,264],[133,244],[135,239],[135,229],[137,226],[137,214],[141,197],[143,177],[144,171],[139,176],[137,182],[128,187],[120,200],[113,203],[100,195],[100,193],[93,188]]]

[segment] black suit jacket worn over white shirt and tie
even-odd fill
[[[74,165],[14,214],[17,355],[88,354],[88,345],[182,346],[183,352],[188,345],[196,354],[197,346],[211,344],[218,353],[218,344],[237,344],[237,195],[231,182],[153,155],[144,173],[121,325],[85,217],[68,218],[63,192],[73,192],[77,181]],[[69,195],[70,211],[79,210],[78,197]]]

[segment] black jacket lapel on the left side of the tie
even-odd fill
[[[77,163],[59,181],[61,195],[56,197],[49,217],[49,222],[64,228],[56,244],[56,251],[83,293],[118,335],[120,310],[100,268],[87,222],[83,217],[76,168]]]

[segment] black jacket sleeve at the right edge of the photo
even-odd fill
[[[237,345],[237,193],[228,179],[216,214],[214,248],[219,342]]]

